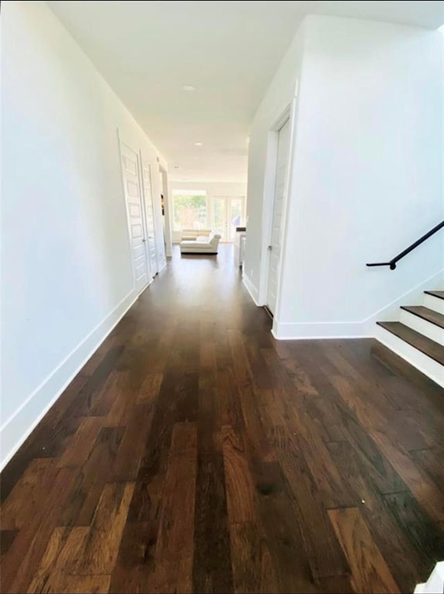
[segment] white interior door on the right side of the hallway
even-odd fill
[[[271,223],[271,238],[268,250],[268,291],[267,306],[271,313],[275,313],[278,295],[278,276],[280,250],[282,243],[282,211],[284,204],[284,186],[287,177],[289,159],[290,123],[287,120],[278,132],[278,155],[276,157],[275,195],[273,200],[273,219]]]

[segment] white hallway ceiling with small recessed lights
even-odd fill
[[[305,15],[444,22],[444,1],[425,0],[48,4],[167,158],[171,177],[191,181],[246,180],[248,125]]]

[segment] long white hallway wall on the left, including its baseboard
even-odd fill
[[[44,2],[3,3],[1,37],[3,464],[135,298],[117,128],[160,187],[157,150]]]

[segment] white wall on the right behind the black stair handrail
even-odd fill
[[[364,335],[374,315],[442,270],[440,236],[393,272],[366,268],[443,219],[440,44],[419,28],[305,19],[278,337]],[[248,266],[260,270],[251,252]]]

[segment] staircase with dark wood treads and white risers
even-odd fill
[[[444,290],[402,306],[398,322],[377,322],[376,338],[444,387]]]

